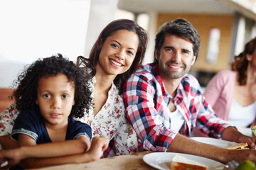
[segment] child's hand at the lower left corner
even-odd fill
[[[4,160],[8,161],[8,164],[1,165],[1,169],[9,169],[21,161],[21,155],[18,149],[9,149],[9,150],[1,149],[0,159],[1,159],[1,164],[4,163]]]

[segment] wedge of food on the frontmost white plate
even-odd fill
[[[188,159],[186,157],[182,157],[179,154],[175,154],[174,158],[171,159],[171,170],[178,170],[178,169],[198,169],[198,170],[207,170],[208,166],[205,166],[203,164],[200,164],[199,162],[193,161],[191,159]]]

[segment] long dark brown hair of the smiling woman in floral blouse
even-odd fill
[[[92,47],[92,50],[90,51],[89,59],[79,56],[77,64],[80,67],[82,66],[89,68],[90,72],[88,72],[88,74],[90,74],[91,78],[94,77],[96,74],[96,65],[99,61],[99,55],[100,51],[102,50],[102,45],[105,40],[111,35],[114,35],[117,30],[129,30],[133,33],[136,33],[139,37],[139,47],[131,67],[127,70],[127,72],[124,72],[123,74],[118,74],[117,77],[115,77],[114,79],[114,84],[119,89],[119,94],[122,94],[122,88],[126,79],[128,79],[137,69],[139,69],[139,67],[142,66],[142,61],[144,60],[146,45],[148,42],[146,31],[136,22],[128,19],[119,19],[109,23],[98,36],[95,44]]]

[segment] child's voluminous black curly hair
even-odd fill
[[[65,74],[69,81],[75,84],[75,104],[70,113],[71,117],[82,118],[92,105],[91,91],[85,74],[85,69],[80,69],[74,62],[69,61],[62,55],[38,59],[29,65],[14,81],[17,86],[11,95],[15,98],[16,107],[19,111],[38,110],[36,104],[38,81],[42,77],[54,77],[57,74]]]

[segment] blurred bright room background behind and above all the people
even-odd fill
[[[256,0],[1,0],[0,88],[11,88],[18,72],[39,57],[87,57],[102,28],[117,18],[137,21],[149,34],[144,64],[154,60],[161,24],[190,21],[202,42],[191,74],[204,88],[255,37]]]

